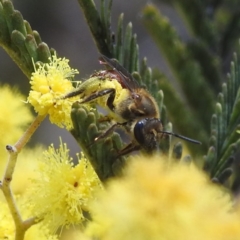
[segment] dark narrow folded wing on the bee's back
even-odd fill
[[[101,55],[100,63],[106,64],[111,67],[112,70],[116,71],[121,77],[121,84],[129,91],[133,92],[134,89],[140,88],[139,83],[133,78],[127,69],[121,66],[115,59],[109,59],[108,57]]]

